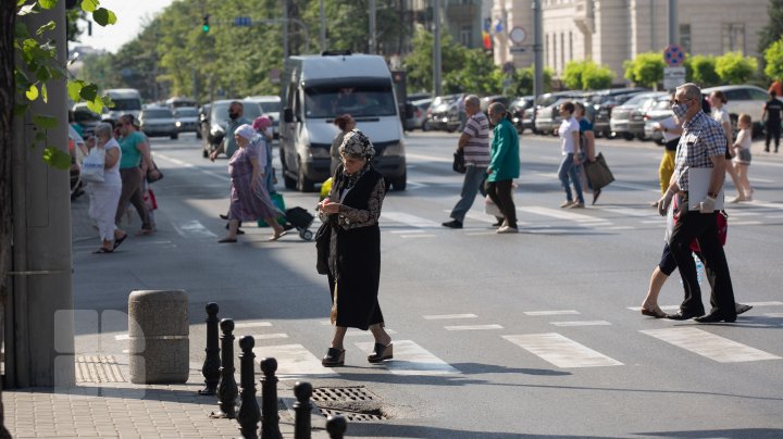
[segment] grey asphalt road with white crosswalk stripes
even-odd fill
[[[313,243],[296,234],[266,242],[269,229],[254,225],[239,243],[217,243],[226,160],[202,159],[189,135],[152,139],[165,174],[153,186],[156,235],[96,255],[98,238],[74,233],[76,308],[103,317],[102,344],[86,341],[98,326],[82,324],[77,347],[121,353],[127,294],[184,289],[194,367],[203,360],[203,308],[215,301],[221,317],[240,323],[237,337],[257,336],[257,360],[277,358],[284,389],[301,379],[369,393],[373,403],[355,409],[380,407],[384,418],[351,422],[349,437],[783,436],[781,156],[755,145],[756,201],[728,209],[736,299],[754,309],[735,324],[699,325],[637,309],[663,243],[663,220],[649,206],[660,193],[660,147],[599,139],[617,180],[597,205],[561,210],[559,143],[525,135],[514,193],[521,233],[497,235],[481,199],[463,229],[440,226],[461,187],[450,165],[456,139],[409,135],[408,190],[384,202],[380,301],[394,361],[369,365],[372,337],[351,331],[346,366],[320,366],[331,302]],[[283,190],[282,178],[278,190],[287,206],[318,202]],[[138,218],[126,227],[138,229]],[[671,311],[681,300],[675,274],[660,304]]]

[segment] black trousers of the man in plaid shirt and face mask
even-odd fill
[[[720,313],[725,317],[736,316],[729,264],[718,236],[718,213],[688,211],[687,200],[679,205],[684,209],[680,211],[678,223],[669,239],[669,247],[678,263],[680,277],[682,277],[685,288],[685,300],[680,305],[680,310],[683,313],[704,314],[701,290],[696,277],[696,264],[691,252],[691,241],[696,238],[706,265],[714,273],[714,285],[710,296],[711,312]]]

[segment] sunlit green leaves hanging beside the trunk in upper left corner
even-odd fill
[[[36,0],[28,3],[27,0],[17,0],[16,15],[24,16],[40,13],[42,10],[54,8],[58,1],[59,0]],[[87,11],[87,9],[84,8],[85,3],[92,9]],[[92,12],[94,20],[99,24],[105,25],[116,22],[114,13],[103,8],[98,8],[98,4],[99,2],[97,0],[84,0],[82,3],[83,10]],[[100,16],[96,17],[96,13]],[[49,22],[34,29],[35,33],[32,33],[22,21],[17,21],[15,24],[14,49],[20,60],[17,63],[14,63],[17,96],[14,114],[17,116],[26,114],[29,111],[30,103],[38,99],[48,102],[49,92],[47,84],[49,81],[67,77],[65,65],[58,59],[58,42],[49,36],[55,28],[57,24]],[[83,91],[85,88],[94,90],[94,92],[90,93],[90,100],[94,103],[100,104],[101,109],[103,108],[103,102],[101,98],[98,97],[97,86],[87,84],[72,86],[69,84],[67,87],[69,91],[71,91],[71,88],[74,90],[78,88],[78,95],[82,97],[84,97]],[[40,129],[34,137],[34,147],[36,143],[46,141],[46,130],[54,129],[60,124],[60,120],[50,114],[32,114],[32,121],[33,124]],[[71,155],[51,146],[44,149],[42,159],[50,166],[59,170],[67,170],[71,165]]]

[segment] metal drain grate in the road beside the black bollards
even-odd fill
[[[362,386],[315,388],[312,400],[324,417],[343,415],[352,422],[388,418],[381,410],[378,398]]]

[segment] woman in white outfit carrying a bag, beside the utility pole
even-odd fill
[[[101,123],[95,127],[96,145],[105,151],[103,166],[103,183],[90,183],[87,187],[90,199],[89,216],[98,226],[102,240],[100,249],[95,253],[111,253],[127,238],[127,234],[114,224],[120,193],[122,192],[122,178],[120,177],[120,158],[122,150],[114,139],[113,128],[110,124]]]

